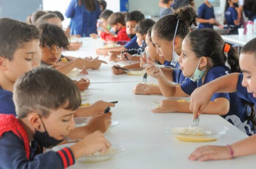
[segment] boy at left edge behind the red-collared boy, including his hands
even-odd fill
[[[1,18],[0,37],[0,113],[16,116],[13,102],[14,83],[19,76],[40,65],[39,30],[18,20]],[[105,132],[111,119],[111,113],[102,113],[107,106],[114,104],[97,101],[88,107],[78,108],[75,113],[78,117],[101,113],[93,116],[88,125],[77,128],[72,136],[83,138],[96,130]]]

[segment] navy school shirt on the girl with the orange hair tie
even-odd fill
[[[210,68],[207,72],[203,84],[211,82],[221,76],[230,74],[230,69],[225,65],[220,65]],[[198,87],[198,82],[193,82],[189,78],[186,78],[184,83],[181,84],[181,89],[188,95]],[[255,130],[252,129],[253,125],[247,120],[248,114],[250,114],[250,107],[246,105],[243,100],[238,97],[236,92],[234,93],[215,93],[211,97],[211,101],[216,98],[226,98],[230,101],[230,110],[223,117],[225,120],[235,125],[241,131],[245,132],[247,135],[255,134]]]

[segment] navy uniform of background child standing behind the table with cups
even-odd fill
[[[225,12],[225,19],[228,27],[231,29],[229,34],[238,34],[238,28],[240,26],[235,25],[234,21],[238,19],[237,10],[234,7],[229,7]]]

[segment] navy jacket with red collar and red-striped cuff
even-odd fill
[[[13,115],[6,115],[13,116]],[[2,117],[1,117],[2,118]],[[16,119],[13,116],[14,119]],[[16,125],[17,125],[16,120]],[[14,123],[9,124],[8,128],[19,129],[16,134],[13,131],[0,131],[0,168],[26,168],[26,169],[63,169],[75,163],[75,158],[69,148],[61,149],[57,152],[48,151],[43,153],[43,146],[33,141],[29,146],[28,136],[19,124],[15,127]],[[3,121],[1,121],[3,124]],[[6,124],[5,124],[6,125]],[[3,127],[3,126],[1,126]],[[22,135],[22,134],[23,135]],[[24,135],[25,134],[25,135]],[[26,149],[28,147],[28,149]]]

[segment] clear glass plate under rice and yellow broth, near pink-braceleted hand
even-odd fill
[[[204,125],[199,126],[199,128],[203,128],[203,130],[211,131],[209,135],[185,135],[185,134],[177,134],[171,131],[171,128],[174,127],[167,127],[165,132],[169,134],[173,134],[174,137],[178,140],[185,141],[185,142],[210,142],[215,141],[220,138],[221,135],[227,133],[229,128],[224,126],[217,126],[217,125]]]

